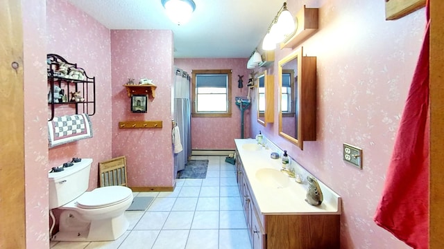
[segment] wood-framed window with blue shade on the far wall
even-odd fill
[[[193,70],[193,117],[231,117],[231,70]]]

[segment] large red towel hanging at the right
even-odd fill
[[[407,245],[429,241],[429,1],[427,28],[388,165],[375,223]]]

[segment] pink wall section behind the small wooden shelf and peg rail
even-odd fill
[[[171,30],[112,30],[112,156],[126,156],[131,187],[171,187],[171,85],[173,33]],[[147,113],[131,113],[126,89],[128,78],[152,79],[155,99]],[[119,129],[119,121],[162,120],[162,129]]]

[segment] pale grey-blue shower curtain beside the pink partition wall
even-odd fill
[[[174,177],[185,169],[191,156],[191,105],[189,101],[189,84],[191,77],[180,68],[175,68],[174,77],[174,120],[180,131],[183,150],[174,154]]]

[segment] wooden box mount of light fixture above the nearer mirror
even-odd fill
[[[280,48],[296,48],[309,36],[318,30],[318,8],[305,8],[299,10],[296,15],[298,27],[293,35],[280,44]]]

